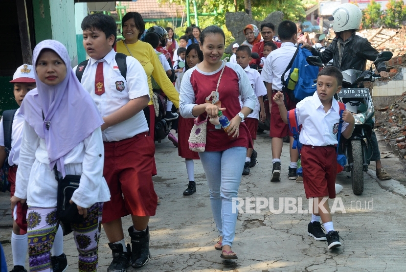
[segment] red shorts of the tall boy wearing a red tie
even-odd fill
[[[126,215],[154,216],[158,196],[152,183],[155,144],[148,132],[116,142],[104,142],[103,176],[110,201],[103,205],[102,223]]]

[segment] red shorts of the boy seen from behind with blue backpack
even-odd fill
[[[271,97],[271,129],[269,130],[269,136],[275,138],[283,138],[288,135],[293,136],[293,133],[289,131],[288,124],[285,124],[281,118],[278,105],[273,101],[273,96],[276,92],[277,91],[272,91]],[[285,98],[288,111],[296,108],[296,103],[292,102],[288,95],[285,95]]]

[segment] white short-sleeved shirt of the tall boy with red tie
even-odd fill
[[[115,54],[112,49],[102,60],[96,61],[90,58],[82,76],[82,85],[85,90],[89,91],[102,117],[116,112],[132,99],[144,95],[151,98],[149,96],[147,75],[141,64],[135,58],[128,56],[126,58],[127,80],[125,80],[115,62]],[[94,93],[94,80],[97,63],[100,61],[103,61],[105,92],[102,95],[97,95]],[[74,72],[76,72],[76,68],[77,66],[73,68]],[[119,91],[122,84],[124,84],[124,90]],[[102,135],[103,141],[112,142],[128,139],[147,131],[147,119],[144,112],[140,111],[130,119],[105,129],[102,131]]]

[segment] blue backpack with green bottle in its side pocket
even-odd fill
[[[318,67],[311,66],[307,63],[306,58],[308,56],[313,56],[312,52],[306,48],[300,48],[300,45],[297,45],[296,52],[294,53],[291,62],[282,74],[282,91],[285,95],[289,95],[289,98],[293,102],[299,102],[305,97],[313,95],[316,91],[316,85],[313,81],[317,78]],[[288,82],[291,79],[291,74],[294,68],[299,69],[299,78],[292,91],[288,89]],[[291,70],[288,79],[285,81],[285,74],[289,69]]]

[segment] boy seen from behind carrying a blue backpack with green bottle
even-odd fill
[[[290,137],[290,165],[288,178],[295,180],[297,178],[296,168],[299,154],[296,149],[292,149],[293,134],[289,131],[289,127],[281,118],[278,106],[272,100],[273,95],[278,91],[282,91],[282,74],[293,58],[296,47],[294,44],[297,41],[296,24],[292,21],[285,20],[278,25],[279,39],[282,41],[280,48],[273,50],[265,60],[264,68],[262,68],[261,79],[267,83],[268,98],[272,101],[271,104],[271,129],[269,136],[272,137],[272,177],[271,182],[280,181],[281,160],[282,155],[282,138],[289,135]],[[285,73],[285,80],[288,78],[289,71]],[[296,104],[286,97],[288,111],[295,108]]]

